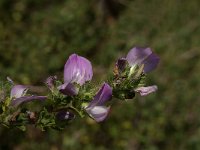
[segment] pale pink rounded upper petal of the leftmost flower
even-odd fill
[[[11,89],[10,96],[11,98],[19,98],[26,93],[27,89],[25,85],[15,85]]]

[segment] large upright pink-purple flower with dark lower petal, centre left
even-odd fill
[[[77,54],[72,54],[64,67],[64,84],[59,86],[58,89],[63,94],[76,95],[78,89],[73,83],[82,86],[85,82],[90,81],[92,76],[93,71],[90,61]]]

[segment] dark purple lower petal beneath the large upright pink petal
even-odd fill
[[[68,96],[74,96],[78,94],[78,89],[71,83],[64,83],[60,85],[58,90]]]

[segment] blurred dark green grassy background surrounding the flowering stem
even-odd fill
[[[159,90],[115,102],[108,119],[77,119],[64,131],[0,126],[2,150],[199,150],[199,0],[0,0],[0,78],[42,86],[62,79],[72,53],[93,63],[94,80],[118,57],[149,46],[161,57],[148,84]]]

